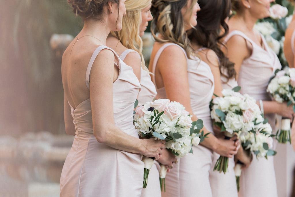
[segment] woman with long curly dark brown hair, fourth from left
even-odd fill
[[[211,68],[214,76],[214,94],[223,96],[221,93],[223,89],[232,89],[237,86],[234,64],[221,50],[222,39],[228,33],[227,21],[231,12],[231,2],[230,0],[199,0],[198,3],[201,8],[197,13],[198,23],[196,29],[192,29],[189,39],[194,50]],[[223,135],[217,128],[214,129],[214,132],[216,136]],[[248,167],[251,157],[247,157],[243,153],[243,149],[240,148],[235,158]],[[214,152],[214,165],[219,156]],[[229,158],[228,170],[225,174],[219,173],[219,171],[211,172],[210,184],[214,185],[212,187],[213,196],[238,196],[234,166],[235,162],[232,157]]]

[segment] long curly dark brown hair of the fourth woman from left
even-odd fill
[[[230,14],[231,2],[230,0],[199,0],[198,3],[201,8],[197,12],[198,23],[196,29],[193,29],[189,35],[189,39],[201,47],[213,50],[219,59],[221,75],[227,79],[234,78],[235,64],[230,62],[221,50],[222,39],[228,34],[228,26],[224,20]],[[221,29],[224,31],[220,35]]]

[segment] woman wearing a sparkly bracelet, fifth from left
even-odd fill
[[[281,69],[281,64],[265,38],[253,27],[258,19],[269,17],[271,2],[273,0],[232,0],[236,14],[228,22],[230,33],[225,42],[228,58],[235,63],[240,92],[256,99],[275,133],[276,113],[292,118],[294,112],[293,106],[272,101],[266,92],[269,79],[276,69]],[[275,147],[276,141],[273,149]],[[273,156],[259,158],[259,162],[254,158],[249,168],[242,171],[239,196],[278,196]]]

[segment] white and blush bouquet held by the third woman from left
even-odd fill
[[[240,87],[224,89],[223,97],[216,97],[211,102],[211,117],[214,125],[221,128],[226,139],[235,134],[238,135],[255,133],[263,124],[263,117],[259,106],[248,94],[242,95],[237,92]],[[228,167],[228,157],[220,156],[214,170],[226,173]]]

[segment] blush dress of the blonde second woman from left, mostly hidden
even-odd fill
[[[127,49],[120,55],[120,59],[124,61],[127,54],[130,52],[135,52],[135,50]],[[155,96],[157,95],[157,91],[154,83],[150,78],[150,73],[148,71],[142,69],[140,72],[140,86],[141,90],[137,96],[138,106],[144,105],[148,101],[153,101]],[[160,188],[160,180],[159,180],[159,171],[160,165],[157,161],[154,161],[152,168],[150,169],[148,175],[148,184],[146,188],[143,188],[141,191],[141,197],[160,197],[161,196],[161,188]]]

